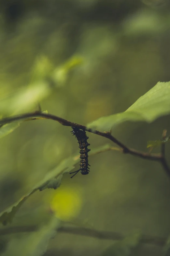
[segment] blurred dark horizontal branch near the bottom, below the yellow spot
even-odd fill
[[[37,230],[38,230],[38,226],[36,225],[10,227],[6,229],[0,229],[0,236],[12,234],[12,233],[29,233],[29,232],[35,232]],[[83,228],[83,227],[62,226],[57,231],[61,233],[66,233],[66,234],[89,236],[89,237],[94,237],[97,239],[104,239],[104,240],[122,240],[124,238],[124,236],[118,232],[99,231],[99,230]],[[140,243],[143,243],[143,244],[164,246],[166,243],[166,238],[142,235],[139,241]]]

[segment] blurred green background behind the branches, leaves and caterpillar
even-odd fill
[[[169,46],[169,0],[1,0],[0,115],[35,111],[39,102],[42,111],[86,125],[125,111],[157,82],[170,81]],[[147,151],[147,141],[160,139],[165,128],[170,132],[169,116],[152,124],[126,122],[112,135]],[[1,211],[78,152],[70,131],[58,122],[37,120],[23,122],[1,138]],[[91,149],[109,142],[88,136]],[[169,153],[167,144],[167,160]],[[63,221],[122,235],[137,230],[168,237],[170,182],[160,165],[116,151],[89,156],[89,163],[89,175],[70,179],[64,174],[58,190],[36,192],[12,225],[46,222],[58,195],[65,202],[78,202],[75,214],[70,213],[69,203],[66,216],[61,210]],[[54,208],[60,212],[62,206]],[[8,243],[14,238],[3,236],[2,255],[8,255]],[[21,235],[17,239],[21,245]],[[19,244],[13,247],[14,256]],[[44,255],[106,255],[112,244],[58,233]],[[142,245],[135,255],[163,252],[161,247]]]

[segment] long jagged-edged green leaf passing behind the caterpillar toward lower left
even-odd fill
[[[97,154],[98,152],[101,152],[102,150],[109,149],[110,146],[108,144],[93,149],[90,151],[89,155]],[[28,197],[32,194],[34,194],[37,190],[42,191],[47,188],[53,188],[56,189],[60,186],[61,180],[64,173],[68,173],[71,170],[74,169],[74,166],[79,162],[79,155],[76,156],[70,156],[67,159],[64,159],[61,164],[51,170],[45,178],[39,182],[29,193],[24,195],[20,200],[18,200],[16,203],[14,203],[12,206],[4,210],[0,213],[0,222],[6,225],[7,223],[10,223],[15,216],[15,213],[20,209],[21,205],[28,199]]]

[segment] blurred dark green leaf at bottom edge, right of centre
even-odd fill
[[[122,241],[115,242],[112,246],[106,249],[102,256],[129,256],[133,248],[135,248],[140,241],[140,234],[125,237]]]

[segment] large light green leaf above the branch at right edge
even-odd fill
[[[89,123],[87,127],[99,131],[110,131],[125,121],[146,121],[150,123],[169,113],[170,82],[158,82],[125,112],[101,117]]]

